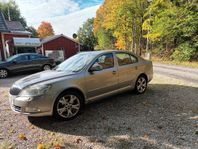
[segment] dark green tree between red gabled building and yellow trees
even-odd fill
[[[86,51],[94,50],[94,47],[97,43],[96,38],[93,33],[93,22],[94,18],[87,19],[82,27],[79,28],[77,35],[78,41],[83,45]]]

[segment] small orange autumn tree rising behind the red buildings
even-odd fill
[[[41,25],[37,29],[38,37],[45,38],[54,35],[54,30],[49,22],[41,22]]]

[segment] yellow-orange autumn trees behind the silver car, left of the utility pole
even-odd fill
[[[141,53],[143,15],[147,6],[146,0],[105,0],[94,20],[99,45],[100,41],[113,42],[117,49]]]

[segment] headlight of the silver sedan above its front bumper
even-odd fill
[[[24,88],[20,92],[20,96],[39,96],[43,95],[51,88],[51,85],[33,85],[27,88]]]

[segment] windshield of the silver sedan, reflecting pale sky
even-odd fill
[[[75,56],[70,57],[60,65],[58,65],[56,71],[69,71],[79,72],[81,71],[91,60],[95,57],[95,54],[91,53],[79,53]]]

